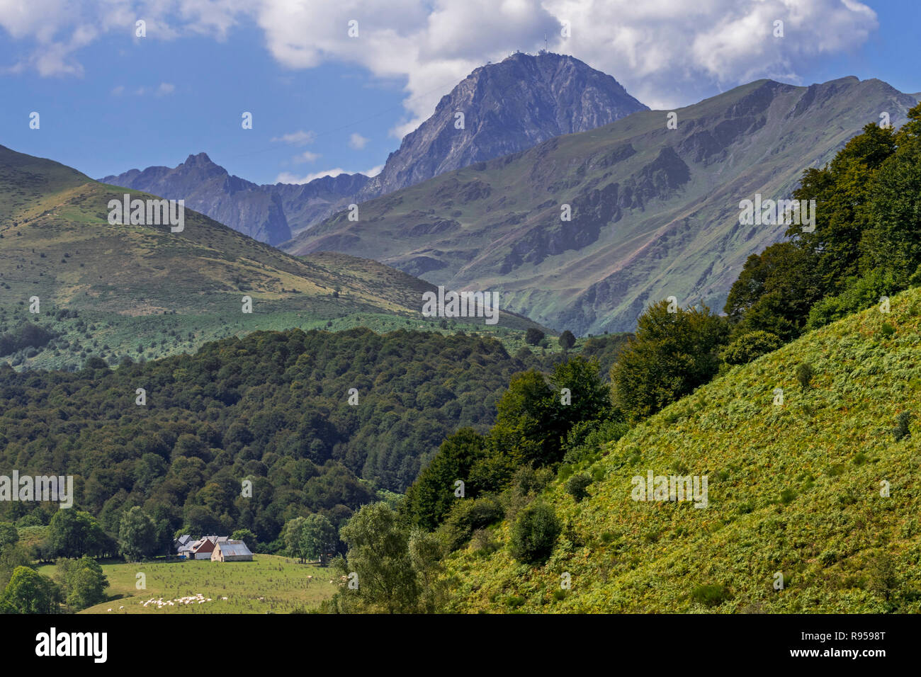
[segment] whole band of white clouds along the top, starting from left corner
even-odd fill
[[[412,129],[473,68],[515,50],[573,54],[616,77],[654,108],[694,102],[757,77],[798,81],[811,59],[842,53],[877,29],[857,0],[0,0],[0,27],[35,48],[7,70],[79,76],[76,53],[102,33],[133,30],[147,39],[198,34],[216,40],[237,26],[262,30],[267,50],[286,68],[328,61],[358,64],[379,78],[400,78]],[[358,22],[357,37],[347,34]],[[784,37],[773,34],[784,22]],[[561,35],[569,22],[571,34]]]

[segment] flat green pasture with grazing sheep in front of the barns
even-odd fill
[[[80,613],[292,613],[316,607],[337,588],[330,584],[332,569],[274,554],[255,554],[252,562],[121,563],[103,564],[102,570],[109,578],[110,601]],[[53,576],[55,567],[42,566],[39,572]],[[145,574],[146,589],[135,589],[138,573]],[[201,597],[181,601],[196,596]],[[211,601],[200,603],[203,598]]]

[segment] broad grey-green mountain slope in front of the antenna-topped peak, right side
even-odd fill
[[[650,301],[719,309],[745,259],[785,227],[739,224],[739,203],[789,197],[888,111],[880,80],[759,80],[674,111],[639,111],[359,205],[283,245],[374,258],[434,284],[497,289],[509,309],[576,333],[632,331]],[[572,220],[561,220],[563,205]]]

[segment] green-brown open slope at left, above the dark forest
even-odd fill
[[[62,334],[17,366],[165,356],[256,329],[437,328],[421,314],[433,287],[409,274],[342,254],[299,259],[189,209],[179,233],[113,226],[109,201],[126,192],[0,146],[0,331],[38,319]],[[251,314],[242,312],[244,295]],[[29,313],[32,297],[38,316]],[[452,326],[516,337],[535,326],[507,313],[494,326],[469,322]]]

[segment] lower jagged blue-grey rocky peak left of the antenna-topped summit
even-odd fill
[[[239,176],[231,176],[204,153],[190,155],[172,169],[131,169],[99,181],[169,200],[185,200],[190,209],[261,242],[276,245],[291,239],[280,196],[267,193]]]

